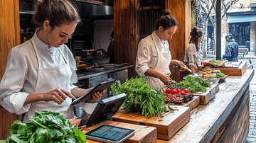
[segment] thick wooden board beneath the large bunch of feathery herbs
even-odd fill
[[[190,108],[176,105],[170,106],[175,110],[165,113],[162,118],[160,116],[145,117],[141,113],[124,110],[114,115],[112,119],[118,122],[156,127],[157,139],[169,140],[191,118]]]

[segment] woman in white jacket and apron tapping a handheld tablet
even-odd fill
[[[58,111],[79,125],[70,107],[74,96],[90,90],[74,86],[78,81],[75,59],[64,44],[80,23],[73,1],[39,0],[33,23],[38,26],[31,40],[11,49],[0,84],[0,103],[11,113],[26,113],[26,123],[35,110]],[[94,94],[90,101],[100,98]]]

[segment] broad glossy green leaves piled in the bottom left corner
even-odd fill
[[[51,111],[35,111],[35,116],[26,124],[19,120],[14,121],[10,133],[0,143],[86,142],[85,134],[81,130],[71,125],[60,113]]]

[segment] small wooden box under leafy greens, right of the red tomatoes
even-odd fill
[[[215,97],[215,93],[219,91],[218,84],[211,84],[210,87],[206,88],[206,91],[203,93],[193,93],[195,96],[199,96],[200,104],[206,105]]]

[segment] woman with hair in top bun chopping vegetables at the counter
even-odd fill
[[[139,75],[143,72],[153,88],[161,89],[164,84],[170,83],[169,65],[176,64],[183,70],[188,68],[183,62],[171,59],[167,40],[172,38],[177,25],[176,18],[165,10],[156,20],[154,32],[139,42],[135,70]]]

